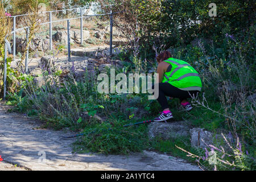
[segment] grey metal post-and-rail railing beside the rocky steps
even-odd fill
[[[68,61],[71,61],[71,36],[70,36],[70,31],[71,31],[71,20],[75,20],[75,19],[80,19],[80,36],[81,36],[81,42],[80,44],[82,45],[82,43],[84,42],[83,40],[83,24],[84,24],[84,18],[86,17],[93,17],[93,16],[104,16],[104,15],[109,15],[109,25],[110,25],[110,41],[109,41],[109,47],[110,47],[110,53],[109,55],[112,56],[112,47],[113,47],[113,16],[114,14],[118,14],[120,12],[112,12],[112,6],[114,5],[104,5],[104,6],[110,6],[110,12],[109,13],[104,13],[104,14],[85,14],[85,10],[89,9],[89,8],[96,8],[96,7],[101,7],[101,6],[85,6],[85,7],[77,7],[77,8],[73,8],[73,9],[63,9],[63,10],[55,10],[55,11],[43,11],[40,12],[42,14],[49,14],[48,17],[48,21],[47,22],[43,22],[40,23],[40,26],[42,25],[49,25],[49,50],[51,51],[53,49],[52,47],[52,24],[53,23],[58,23],[58,22],[67,22],[67,47],[68,47]],[[79,17],[75,17],[75,18],[61,18],[59,20],[53,20],[52,19],[52,14],[53,13],[58,13],[58,12],[67,12],[67,11],[72,11],[72,10],[76,10],[77,13],[79,13]],[[28,36],[30,34],[30,27],[24,26],[24,27],[19,27],[16,28],[17,24],[16,24],[16,19],[22,16],[28,16],[30,14],[22,14],[22,15],[15,15],[15,16],[10,16],[10,18],[13,18],[13,31],[11,32],[11,34],[13,34],[13,49],[11,49],[10,43],[6,40],[5,42],[5,65],[4,65],[4,78],[3,78],[3,87],[4,87],[4,92],[3,92],[3,100],[5,100],[6,98],[6,72],[7,72],[7,51],[9,51],[9,53],[13,53],[13,56],[16,56],[16,32],[20,32],[20,31],[25,31],[26,32],[26,40],[28,42]],[[27,73],[28,72],[28,53],[29,50],[27,48],[26,50],[26,59],[25,59],[25,70],[24,72]]]

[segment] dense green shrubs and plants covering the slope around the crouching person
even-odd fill
[[[15,1],[10,12],[24,11],[18,2]],[[52,9],[51,2],[44,2]],[[77,5],[87,3],[79,2]],[[41,87],[34,83],[32,76],[10,69],[19,80],[19,86],[15,92],[9,92],[7,101],[15,106],[13,111],[40,118],[46,121],[45,127],[57,130],[68,127],[85,133],[74,145],[74,150],[79,152],[130,154],[157,150],[197,162],[204,169],[255,170],[255,3],[239,0],[96,2],[115,4],[112,10],[120,13],[114,15],[114,26],[129,42],[115,56],[105,57],[122,61],[123,67],[115,69],[115,73],[155,72],[156,56],[168,49],[172,57],[191,64],[203,81],[202,92],[191,100],[195,107],[191,112],[180,111],[179,100],[169,101],[175,121],[188,121],[192,127],[231,135],[234,142],[224,140],[208,148],[194,148],[186,137],[149,139],[147,125],[123,127],[156,117],[160,105],[148,100],[147,94],[98,93],[97,76],[101,73],[98,67],[81,77],[72,70],[65,75],[54,68],[44,69],[42,77],[46,81]],[[209,15],[210,3],[217,5],[216,16]],[[102,12],[109,12],[109,8],[102,6]],[[0,48],[2,70],[2,39]],[[110,69],[105,72],[110,75]],[[0,71],[1,78],[2,74]],[[223,145],[230,145],[229,150],[221,148]],[[217,163],[209,162],[210,151],[216,152]]]

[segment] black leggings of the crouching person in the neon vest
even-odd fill
[[[153,85],[154,89],[154,85]],[[180,90],[176,88],[175,86],[172,86],[169,83],[160,83],[159,84],[159,97],[158,97],[158,102],[162,106],[162,109],[167,109],[168,106],[168,101],[166,96],[173,97],[173,98],[179,98],[180,101],[183,101],[187,98],[191,98],[191,96],[196,96],[199,93],[199,90],[191,90],[191,91],[185,91],[185,90]]]

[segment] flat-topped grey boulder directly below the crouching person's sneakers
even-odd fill
[[[148,137],[155,138],[161,137],[164,140],[177,137],[189,137],[189,126],[188,122],[152,122],[148,126]]]

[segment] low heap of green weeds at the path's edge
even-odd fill
[[[127,155],[141,152],[148,147],[146,126],[124,128],[124,122],[111,123],[96,123],[85,127],[83,133],[86,135],[76,142],[75,150]]]

